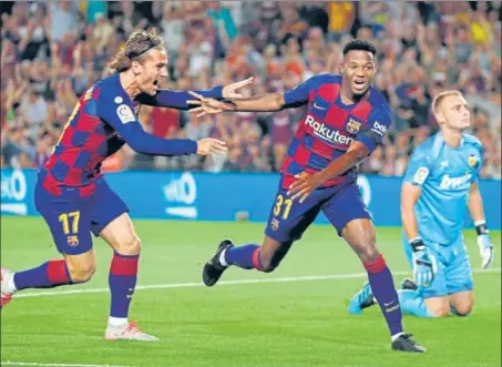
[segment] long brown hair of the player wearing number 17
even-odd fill
[[[142,61],[143,55],[155,48],[165,50],[164,40],[158,35],[154,29],[143,30],[139,29],[131,33],[125,42],[109,63],[110,72],[127,71],[133,61]]]

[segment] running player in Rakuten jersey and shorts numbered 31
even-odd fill
[[[232,241],[223,241],[205,264],[203,281],[215,285],[230,266],[273,272],[322,211],[367,271],[391,335],[391,348],[423,353],[426,348],[403,330],[392,274],[377,248],[371,215],[356,184],[356,165],[381,144],[391,123],[389,104],[371,85],[377,49],[370,42],[354,40],[344,47],[342,54],[341,75],[315,75],[284,93],[233,101],[191,93],[196,100],[187,103],[199,105],[193,111],[201,113],[307,105],[283,162],[264,242],[234,246]]]

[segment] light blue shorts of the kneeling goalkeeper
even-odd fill
[[[403,235],[404,252],[413,268],[412,251],[408,239]],[[473,281],[469,255],[465,249],[463,236],[444,246],[429,241],[423,241],[436,262],[437,273],[434,279],[428,287],[420,288],[424,298],[443,297],[464,290],[472,290]]]

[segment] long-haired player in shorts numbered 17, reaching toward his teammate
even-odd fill
[[[105,339],[155,341],[129,320],[137,279],[141,242],[125,203],[101,173],[102,162],[127,143],[152,155],[218,154],[225,143],[216,139],[165,140],[146,133],[140,121],[142,104],[188,110],[187,92],[158,89],[167,77],[167,52],[162,37],[139,30],[111,62],[113,73],[98,81],[79,100],[52,155],[39,171],[34,203],[45,220],[63,259],[37,267],[1,269],[1,306],[28,288],[52,288],[88,282],[95,272],[91,233],[114,252],[109,285],[111,308]],[[216,99],[239,98],[237,90],[252,79],[197,91]],[[37,241],[37,239],[35,239]]]

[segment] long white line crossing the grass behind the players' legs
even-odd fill
[[[475,274],[493,274],[500,273],[500,267],[491,269],[474,269]],[[392,272],[393,275],[410,275],[410,272]],[[222,285],[239,285],[239,284],[262,284],[262,283],[293,283],[293,282],[306,282],[306,281],[335,281],[335,279],[356,279],[367,277],[367,273],[346,273],[346,274],[332,274],[332,275],[310,275],[310,276],[296,276],[296,277],[281,277],[281,278],[264,278],[264,279],[243,279],[243,281],[222,281],[218,282],[218,286]],[[153,285],[139,285],[136,290],[141,289],[167,289],[167,288],[193,288],[203,287],[203,283],[172,283],[172,284],[153,284]],[[89,289],[70,289],[70,290],[48,290],[37,293],[25,293],[16,295],[16,298],[22,297],[43,297],[43,296],[66,296],[72,294],[84,294],[84,293],[107,293],[109,288],[89,288]]]

